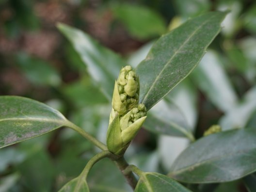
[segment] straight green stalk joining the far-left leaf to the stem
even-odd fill
[[[103,151],[107,151],[108,148],[105,144],[101,143],[99,140],[97,140],[95,137],[84,131],[82,128],[78,127],[77,125],[73,124],[72,122],[68,121],[66,124],[67,127],[72,128],[73,130],[79,132],[84,138],[88,139],[90,142],[95,144],[98,148],[100,148]]]

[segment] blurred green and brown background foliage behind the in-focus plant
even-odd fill
[[[254,0],[0,0],[0,95],[45,102],[104,142],[109,98],[56,24],[79,28],[136,66],[161,34],[190,17],[227,9],[223,29],[199,66],[152,108],[128,148],[128,162],[166,174],[190,143],[184,130],[200,138],[213,124],[224,130],[255,127]],[[0,192],[55,192],[78,176],[97,151],[66,128],[0,149]],[[251,177],[187,187],[247,192]],[[89,184],[92,192],[130,191],[110,160],[96,164]]]

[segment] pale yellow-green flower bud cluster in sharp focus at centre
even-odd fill
[[[131,66],[121,69],[115,81],[107,147],[122,155],[146,119],[146,108],[139,104],[139,78]]]

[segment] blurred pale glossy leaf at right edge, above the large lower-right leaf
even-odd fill
[[[251,88],[243,97],[242,101],[232,110],[227,112],[221,119],[220,125],[223,130],[243,128],[250,117],[256,111],[256,87]]]

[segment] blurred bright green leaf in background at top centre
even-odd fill
[[[125,25],[128,32],[138,39],[161,35],[166,30],[163,17],[142,5],[123,3],[113,6],[112,10],[113,15]]]

